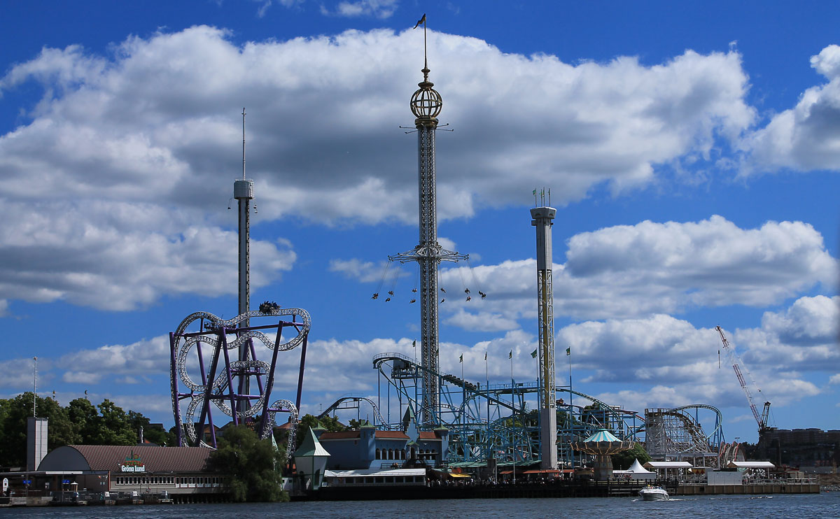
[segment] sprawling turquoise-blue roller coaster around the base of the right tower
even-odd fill
[[[377,354],[372,360],[377,371],[376,398],[343,396],[321,413],[321,417],[355,410],[381,430],[405,430],[407,420],[419,430],[449,430],[449,466],[486,463],[533,464],[539,459],[539,417],[533,405],[537,382],[490,384],[464,380],[457,375],[428,370],[416,359],[399,353]],[[423,405],[423,377],[433,377],[440,388],[438,404]],[[684,406],[657,410],[643,417],[637,412],[611,406],[594,396],[570,387],[557,388],[558,459],[566,467],[581,460],[570,447],[594,432],[606,429],[622,440],[654,440],[654,459],[693,458],[697,464],[717,466],[717,450],[723,441],[722,418],[712,406]],[[365,411],[363,412],[363,409]],[[649,412],[650,410],[648,410]],[[701,422],[714,417],[711,433]],[[653,427],[652,427],[653,426]]]

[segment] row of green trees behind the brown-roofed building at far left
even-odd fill
[[[0,466],[26,464],[27,418],[32,416],[32,392],[0,400]],[[47,448],[62,445],[134,445],[139,428],[144,438],[158,445],[174,445],[175,435],[160,427],[150,427],[142,413],[123,411],[108,399],[94,406],[86,398],[76,398],[67,406],[51,398],[35,398],[38,417],[49,418]]]

